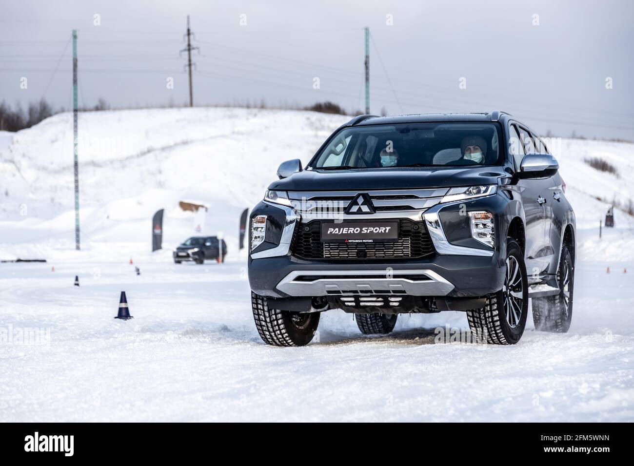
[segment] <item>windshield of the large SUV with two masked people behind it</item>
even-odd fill
[[[495,165],[501,163],[495,123],[403,123],[342,129],[318,153],[313,169]]]

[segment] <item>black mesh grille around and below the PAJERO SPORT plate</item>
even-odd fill
[[[300,223],[295,228],[291,251],[301,259],[403,259],[424,257],[434,245],[424,222],[399,221],[399,238],[385,243],[322,243],[320,220]]]

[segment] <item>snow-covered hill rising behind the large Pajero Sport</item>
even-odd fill
[[[179,200],[193,198],[211,206],[205,233],[222,231],[235,252],[240,211],[262,198],[278,164],[296,157],[306,162],[346,120],[245,108],[81,113],[82,249],[108,257],[113,249],[122,256],[146,254],[150,218],[160,208],[165,208],[169,249],[193,233],[193,214],[178,208]],[[55,115],[13,138],[4,134],[2,141],[0,259],[51,259],[74,249],[72,114]],[[598,247],[595,241],[607,209],[597,198],[634,197],[634,145],[559,139],[550,146],[576,211],[582,253],[593,259],[634,258],[632,219],[619,210],[617,228],[605,232]],[[587,157],[616,165],[618,175],[593,169],[584,162]]]

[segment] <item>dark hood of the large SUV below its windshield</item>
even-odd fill
[[[281,191],[387,190],[451,188],[471,184],[498,184],[508,176],[503,167],[403,167],[303,170],[273,181],[269,189]]]

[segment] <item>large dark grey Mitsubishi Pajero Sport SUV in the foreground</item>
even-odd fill
[[[477,339],[517,343],[573,311],[575,218],[557,160],[504,112],[376,117],[280,165],[250,214],[256,327],[304,345],[320,313],[388,333],[398,314],[466,311]]]

